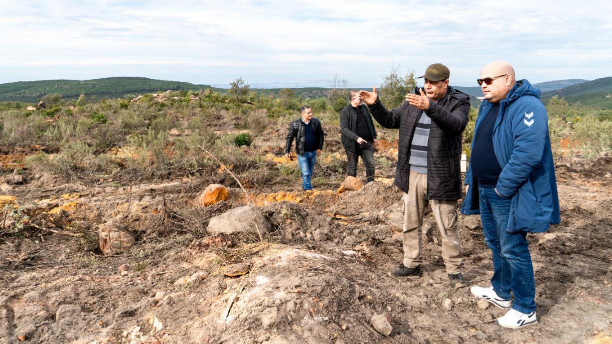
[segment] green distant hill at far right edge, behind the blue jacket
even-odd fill
[[[548,100],[554,95],[565,98],[570,104],[612,109],[612,77],[586,81],[556,91],[545,92],[542,93],[542,100]]]

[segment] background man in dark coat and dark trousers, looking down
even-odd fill
[[[348,167],[348,176],[357,176],[357,160],[365,165],[366,182],[374,180],[374,143],[376,142],[376,128],[368,111],[368,107],[359,99],[359,91],[349,94],[351,103],[340,112],[340,132],[342,145],[345,148]]]

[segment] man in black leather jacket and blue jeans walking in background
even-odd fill
[[[302,189],[312,190],[310,178],[315,170],[316,157],[323,149],[325,133],[321,121],[312,117],[312,108],[304,105],[301,108],[301,118],[289,124],[289,132],[285,139],[285,156],[291,159],[289,152],[293,139],[296,139],[297,162],[302,171]]]

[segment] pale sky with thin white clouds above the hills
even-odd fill
[[[532,83],[612,76],[612,1],[0,0],[0,83],[370,86],[441,62],[477,86],[498,59]]]

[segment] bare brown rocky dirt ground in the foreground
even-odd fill
[[[6,193],[54,232],[0,239],[0,343],[612,343],[612,156],[558,163],[562,222],[528,236],[540,323],[518,331],[491,323],[504,311],[479,308],[469,288],[449,288],[431,214],[424,276],[387,275],[403,218],[394,166],[379,170],[359,192],[337,195],[336,181],[319,193],[298,181],[253,190],[273,228],[263,242],[206,233],[212,216],[245,204],[232,187],[227,201],[198,206],[214,180],[130,187],[30,174]],[[96,227],[111,218],[136,244],[104,256]],[[463,274],[488,286],[478,223],[460,219]],[[390,319],[388,337],[375,313]]]

